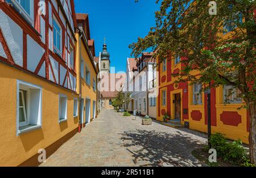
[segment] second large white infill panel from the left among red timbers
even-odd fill
[[[44,49],[36,43],[29,35],[27,35],[27,69],[34,72],[38,66]]]

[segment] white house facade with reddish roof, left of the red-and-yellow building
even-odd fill
[[[128,111],[156,118],[156,62],[153,53],[143,53],[138,60],[128,58],[126,87],[131,92]]]

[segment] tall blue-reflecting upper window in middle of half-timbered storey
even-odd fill
[[[53,50],[61,56],[61,27],[53,18]]]

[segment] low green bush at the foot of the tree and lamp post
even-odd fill
[[[228,142],[224,134],[217,133],[210,137],[209,142],[224,162],[240,166],[253,166],[249,163],[249,155],[243,148],[242,141]]]

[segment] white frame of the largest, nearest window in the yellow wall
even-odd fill
[[[31,118],[31,91],[30,90],[39,90],[39,98],[38,98],[38,114],[36,118]],[[19,122],[19,94],[20,90],[27,91],[27,107],[26,107],[26,122]],[[25,100],[24,96],[23,99]],[[23,100],[23,101],[24,101]],[[24,103],[23,103],[24,104]],[[33,122],[33,123],[32,123]],[[26,126],[26,128],[22,128]],[[31,132],[32,130],[36,130],[42,128],[42,87],[36,86],[34,84],[24,82],[22,80],[17,80],[17,88],[16,88],[16,136],[18,137],[20,134]]]

